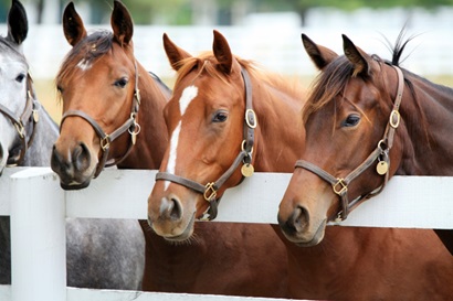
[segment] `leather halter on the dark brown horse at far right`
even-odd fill
[[[387,123],[383,138],[378,142],[378,146],[376,147],[376,149],[370,153],[370,155],[368,155],[368,158],[364,161],[364,163],[361,163],[358,168],[351,171],[346,178],[335,178],[330,173],[326,172],[325,170],[316,166],[315,164],[310,162],[307,162],[305,160],[298,160],[296,162],[295,168],[306,169],[317,174],[319,178],[322,178],[323,180],[331,184],[335,194],[337,194],[340,198],[340,206],[341,206],[341,209],[336,214],[337,216],[337,218],[335,219],[336,222],[345,221],[348,217],[349,212],[352,211],[362,201],[366,201],[379,194],[383,190],[384,185],[387,184],[387,181],[389,180],[389,170],[390,170],[389,151],[391,147],[393,146],[394,130],[400,125],[401,116],[399,112],[399,107],[401,104],[402,93],[404,89],[404,77],[402,75],[401,69],[397,66],[392,66],[392,67],[397,71],[397,74],[398,74],[398,92],[397,92],[397,97],[393,103],[393,109],[390,114],[389,122]],[[357,176],[359,176],[362,172],[365,172],[369,166],[375,164],[376,160],[384,161],[388,164],[388,169],[386,173],[383,174],[384,180],[383,180],[382,185],[366,195],[360,195],[359,197],[357,197],[356,200],[349,203],[349,200],[348,200],[349,183],[352,180],[355,180]],[[329,218],[329,221],[331,217]]]

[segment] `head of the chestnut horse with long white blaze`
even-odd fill
[[[252,169],[253,133],[244,138],[244,131],[253,131],[256,116],[246,104],[246,64],[233,56],[222,34],[214,31],[212,53],[198,57],[166,34],[164,45],[178,78],[165,108],[171,138],[157,174],[160,181],[148,198],[148,215],[156,233],[185,240],[194,221],[207,212],[213,218],[225,189],[241,182],[239,166]]]

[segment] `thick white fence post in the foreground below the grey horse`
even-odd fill
[[[65,301],[65,202],[56,175],[48,168],[18,172],[10,195],[12,301]]]

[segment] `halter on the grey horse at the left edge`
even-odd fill
[[[33,80],[30,74],[27,74],[27,104],[22,115],[19,118],[17,118],[14,116],[14,112],[12,112],[9,108],[0,104],[0,112],[8,117],[14,125],[22,144],[19,158],[14,158],[14,161],[12,162],[9,161],[9,166],[20,165],[23,162],[25,152],[33,142],[36,123],[40,120],[39,110],[41,108],[41,104],[36,100],[32,82]],[[31,122],[32,125],[32,131],[30,133],[29,141],[27,141],[27,122]]]

